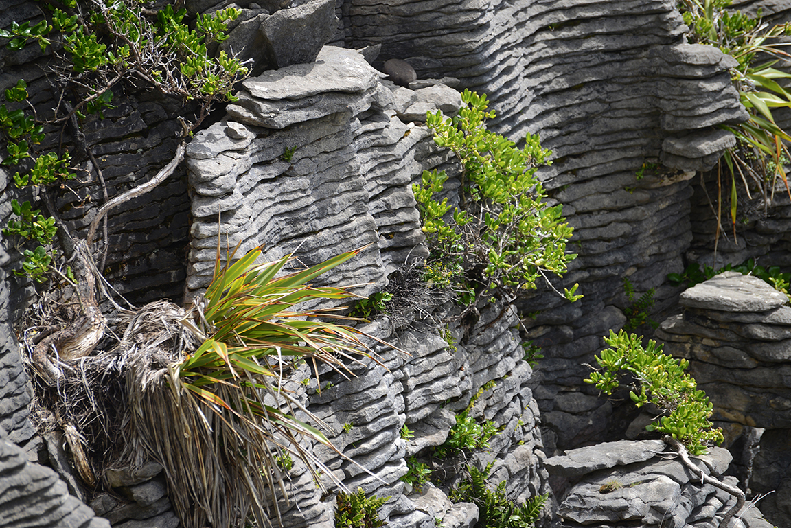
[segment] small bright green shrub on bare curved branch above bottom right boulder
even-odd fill
[[[689,362],[676,360],[662,353],[662,346],[649,341],[643,348],[641,338],[623,330],[604,341],[611,348],[596,356],[600,370],[592,371],[585,383],[592,383],[604,394],[612,394],[619,387],[624,372],[634,377],[629,396],[638,407],[653,403],[662,416],[646,429],[672,436],[687,447],[691,454],[705,454],[711,443],[721,443],[722,432],[713,428],[709,420],[713,405],[698,383],[684,370]]]

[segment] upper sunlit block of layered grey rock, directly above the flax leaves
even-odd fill
[[[227,119],[187,149],[188,292],[210,280],[218,229],[223,245],[263,245],[266,258],[298,247],[308,265],[373,244],[342,268],[345,284],[382,284],[407,255],[425,254],[414,251],[422,232],[411,182],[430,134],[395,117],[392,92],[362,55],[325,47],[315,63],[243,87]]]

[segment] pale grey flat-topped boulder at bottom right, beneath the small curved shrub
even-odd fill
[[[701,485],[661,440],[601,443],[547,459],[552,488],[558,498],[557,526],[657,526],[713,528],[736,498],[712,485]],[[721,477],[728,469],[728,451],[713,447],[694,458],[704,473]],[[760,512],[747,504],[734,524],[771,528]]]

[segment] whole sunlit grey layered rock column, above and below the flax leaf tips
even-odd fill
[[[226,118],[196,134],[187,149],[195,191],[187,296],[210,280],[218,230],[223,246],[227,240],[246,251],[263,244],[267,258],[298,247],[306,264],[373,243],[329,278],[372,283],[364,294],[426,255],[411,183],[424,168],[447,166],[448,154],[419,125],[426,111],[452,115],[460,95],[438,83],[407,89],[382,77],[358,52],[324,47],[315,63],[244,81]],[[328,438],[345,456],[324,447],[316,452],[347,488],[392,497],[382,515],[398,526],[422,526],[436,516],[456,519],[454,526],[471,519],[468,507],[453,506],[436,488],[433,498],[405,495],[399,478],[406,458],[444,442],[454,410],[493,380],[495,388],[471,411],[503,430],[491,443],[498,455],[493,478],[507,479],[520,500],[546,488],[532,370],[521,360],[516,312],[506,308],[483,308],[473,328],[456,330],[464,339],[456,346],[431,325],[395,334],[380,325],[371,331],[410,356],[382,351],[380,363],[353,365],[354,378],[327,372],[320,391],[308,389],[309,409],[335,432]],[[414,431],[409,442],[399,436],[404,425]],[[299,507],[286,511],[287,522],[331,526],[333,505],[321,499],[309,473],[292,477]]]

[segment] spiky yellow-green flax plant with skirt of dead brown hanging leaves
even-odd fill
[[[233,264],[232,253],[221,266],[218,250],[214,280],[182,319],[202,344],[160,375],[138,376],[133,384],[135,429],[165,466],[171,500],[187,528],[248,519],[267,526],[273,511],[279,521],[278,500],[288,503],[288,497],[276,461],[286,454],[304,463],[317,485],[323,487],[324,474],[343,488],[311,447],[339,451],[308,424],[321,422],[286,376],[300,360],[348,372],[347,361],[372,356],[363,341],[369,336],[326,320],[340,317],[331,314],[336,308],[296,307],[351,296],[347,288],[309,281],[358,251],[278,277],[290,257],[256,264],[261,250],[255,248]]]

